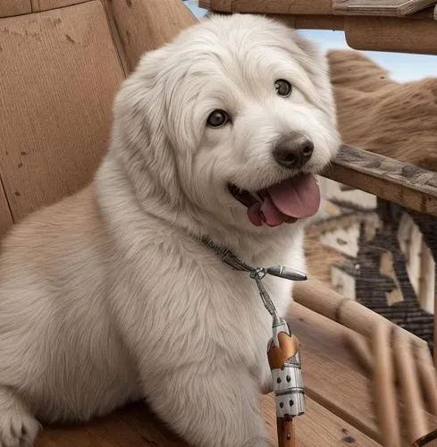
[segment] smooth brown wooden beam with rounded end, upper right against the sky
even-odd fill
[[[357,50],[437,55],[437,21],[348,16],[344,30]]]

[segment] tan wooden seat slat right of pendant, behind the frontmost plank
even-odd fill
[[[374,440],[370,381],[361,373],[338,323],[293,303],[290,328],[301,343],[302,375],[307,396]]]

